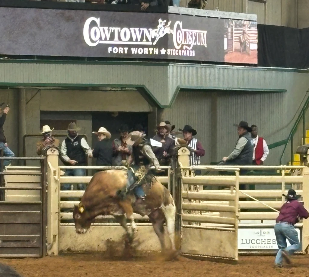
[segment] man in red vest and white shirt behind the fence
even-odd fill
[[[265,139],[257,135],[257,126],[252,125],[251,129],[252,129],[251,136],[254,144],[252,165],[262,166],[269,154],[269,149]]]

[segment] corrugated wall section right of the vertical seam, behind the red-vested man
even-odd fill
[[[218,160],[233,151],[238,137],[233,124],[240,120],[257,125],[267,144],[280,141],[286,137],[285,93],[218,93]],[[277,165],[279,153],[281,148],[271,150],[265,164]]]

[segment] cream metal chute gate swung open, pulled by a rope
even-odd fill
[[[239,169],[235,178],[195,176],[198,167],[180,167],[176,186],[177,229],[181,237],[181,253],[188,256],[238,260],[237,235],[239,211]],[[207,168],[220,171],[223,168]],[[231,176],[230,176],[231,177]],[[225,186],[228,190],[211,193],[200,186]],[[229,205],[223,202],[229,201]]]

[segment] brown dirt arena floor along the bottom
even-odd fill
[[[240,256],[237,264],[197,261],[182,256],[164,262],[158,254],[143,254],[124,260],[106,253],[72,253],[42,259],[0,259],[23,277],[309,277],[309,255],[294,256],[293,265],[273,268],[274,257]],[[1,276],[2,277],[2,276]],[[5,276],[3,276],[5,277]]]

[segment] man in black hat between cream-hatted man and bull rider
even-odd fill
[[[127,124],[122,124],[118,131],[120,133],[120,138],[116,138],[112,143],[114,153],[113,164],[115,166],[125,166],[132,154],[132,146],[127,145],[125,142],[125,138],[130,132],[129,126]]]

